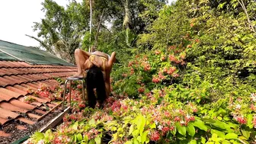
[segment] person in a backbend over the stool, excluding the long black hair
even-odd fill
[[[101,72],[104,76],[104,84],[106,97],[109,97],[110,94],[110,72],[116,61],[116,53],[113,52],[111,56],[108,56],[106,53],[100,51],[95,51],[94,53],[85,52],[81,49],[75,50],[75,63],[78,68],[78,72],[75,75],[72,75],[73,78],[84,78],[85,71],[95,67],[101,69]],[[87,73],[88,75],[88,73]]]

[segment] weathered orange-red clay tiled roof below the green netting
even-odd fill
[[[34,97],[37,101],[24,103],[24,96],[29,96],[28,88],[37,90],[42,85],[59,85],[54,78],[67,77],[76,72],[72,66],[30,65],[26,62],[0,61],[0,127],[11,120],[20,120],[34,124],[48,107],[55,107],[57,103],[43,97]],[[33,97],[33,96],[32,96]],[[24,129],[18,126],[18,129]],[[0,136],[9,136],[0,130]]]

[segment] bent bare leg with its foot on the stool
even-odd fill
[[[78,72],[71,77],[83,77],[83,72],[85,71],[84,64],[90,55],[91,53],[85,52],[84,50],[75,49],[75,63],[78,68]]]

